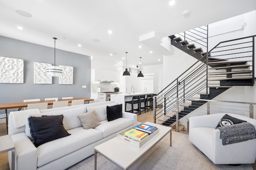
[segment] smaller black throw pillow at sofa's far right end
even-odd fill
[[[112,121],[123,117],[122,113],[122,104],[118,104],[115,106],[107,106],[107,119],[108,121]]]

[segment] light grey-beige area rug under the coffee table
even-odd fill
[[[68,170],[93,169],[94,155],[68,168]],[[97,154],[97,170],[120,170],[120,168]],[[170,135],[166,135],[130,166],[129,170],[252,170],[252,165],[215,165],[188,140],[188,135],[172,131],[172,147],[170,147]]]

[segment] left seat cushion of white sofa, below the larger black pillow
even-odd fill
[[[44,143],[37,148],[37,166],[43,166],[71,152],[86,147],[103,138],[102,132],[96,129],[85,130],[83,127],[68,130],[70,136]]]

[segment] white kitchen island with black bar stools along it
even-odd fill
[[[119,93],[119,94],[113,94],[113,96],[111,95],[111,100],[117,102],[118,104],[122,104],[123,110],[125,111],[125,102],[126,101],[131,101],[132,100],[132,96],[139,96],[139,95],[145,95],[145,97],[147,96],[147,94],[153,94],[153,93]],[[142,107],[144,107],[144,103],[142,103]],[[134,109],[137,109],[137,105],[134,105]],[[126,106],[127,110],[131,110],[132,106],[131,104],[127,104]]]

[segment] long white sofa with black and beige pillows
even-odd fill
[[[123,112],[113,121],[106,119],[106,106],[117,103],[99,102],[53,109],[31,109],[10,112],[8,134],[14,141],[15,170],[64,170],[94,154],[94,147],[116,137],[123,129],[137,124],[137,115]],[[99,122],[95,128],[84,129],[78,115],[95,110]],[[19,113],[19,114],[17,114]],[[71,135],[35,147],[30,139],[28,115],[63,115],[63,125]],[[11,168],[11,153],[8,153]]]

